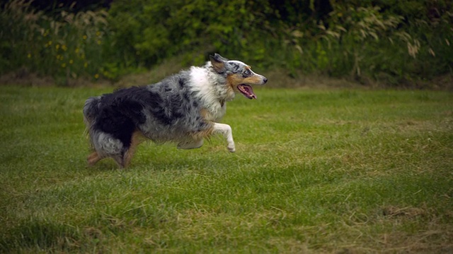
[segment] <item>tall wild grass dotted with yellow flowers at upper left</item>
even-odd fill
[[[35,11],[31,1],[8,1],[0,11],[1,73],[16,71],[51,75],[57,83],[69,78],[96,80],[103,71],[103,44],[107,21],[105,11],[46,16]]]

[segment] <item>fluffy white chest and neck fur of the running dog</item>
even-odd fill
[[[223,85],[224,80],[218,80],[207,68],[192,67],[190,69],[191,90],[195,97],[200,99],[203,107],[208,111],[208,121],[219,121],[226,113],[226,101],[234,99],[234,92],[230,94]]]

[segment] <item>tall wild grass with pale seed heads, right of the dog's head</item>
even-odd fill
[[[451,76],[453,15],[445,11],[451,6],[409,2],[401,5],[421,5],[418,18],[400,16],[379,6],[336,4],[328,23],[312,25],[309,30],[304,26],[285,30],[285,50],[276,54],[277,59],[294,73],[359,81],[365,77],[394,86],[436,75]],[[436,18],[426,17],[430,8],[437,10]],[[442,8],[444,11],[440,11]]]

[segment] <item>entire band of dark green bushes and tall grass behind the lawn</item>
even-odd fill
[[[25,0],[2,7],[0,73],[116,80],[174,56],[201,64],[212,52],[292,75],[395,85],[453,73],[447,0],[117,0],[108,13],[52,13]]]

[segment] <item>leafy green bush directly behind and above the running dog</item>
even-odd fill
[[[109,21],[125,65],[150,66],[176,54],[201,63],[214,51],[262,61],[266,42],[275,40],[266,19],[272,12],[268,1],[122,0],[111,6]]]

